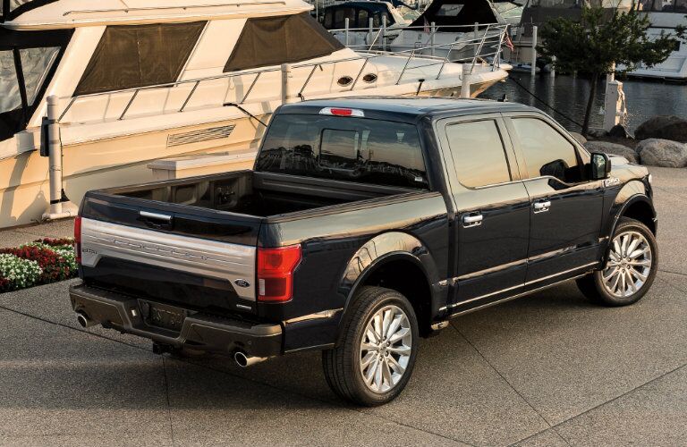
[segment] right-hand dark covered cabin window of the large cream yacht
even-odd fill
[[[225,72],[306,61],[342,48],[310,13],[249,19],[226,62]]]

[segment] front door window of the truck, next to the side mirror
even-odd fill
[[[537,118],[513,118],[530,179],[556,177],[564,183],[581,181],[581,166],[573,143],[547,122]]]

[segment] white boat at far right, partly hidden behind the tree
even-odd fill
[[[657,38],[663,33],[674,34],[679,25],[687,27],[687,0],[640,0],[638,7],[649,16],[649,36]],[[687,42],[680,42],[666,61],[653,67],[640,65],[628,76],[662,80],[687,80]]]

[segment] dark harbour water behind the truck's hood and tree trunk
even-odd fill
[[[507,95],[508,100],[537,107],[552,115],[558,122],[570,131],[580,131],[580,123],[584,120],[584,110],[589,97],[590,80],[584,77],[556,76],[552,78],[548,73],[534,78],[529,73],[512,72],[510,77],[517,80],[523,87],[552,105],[560,113],[572,118],[574,122],[551,110],[532,97],[513,80],[499,82],[494,87],[482,93],[480,97],[498,99]],[[604,105],[604,81],[599,81],[597,95],[594,98],[590,128],[600,128],[604,117],[598,114]],[[642,122],[658,114],[674,114],[687,118],[687,85],[650,80],[623,80],[623,90],[628,109],[628,128],[634,131]],[[577,122],[577,123],[575,123]]]

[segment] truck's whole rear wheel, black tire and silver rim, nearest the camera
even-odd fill
[[[327,384],[359,405],[393,401],[411,377],[418,342],[410,301],[397,291],[364,287],[345,316],[337,347],[322,352]]]

